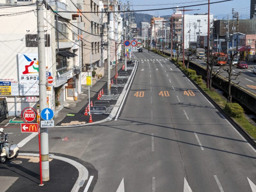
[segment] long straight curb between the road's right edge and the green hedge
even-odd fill
[[[171,61],[171,60],[170,60]],[[171,61],[172,62],[172,61]],[[172,62],[173,63],[173,62]],[[173,63],[177,68],[179,68],[178,65],[176,65],[176,63]],[[180,69],[180,68],[179,68]],[[216,109],[218,109],[221,113],[224,114],[225,118],[230,122],[230,124],[232,126],[235,127],[235,129],[244,137],[245,140],[248,141],[248,143],[250,143],[254,149],[256,149],[256,140],[254,138],[252,138],[252,136],[247,133],[243,127],[241,127],[240,124],[238,124],[236,122],[235,119],[233,119],[232,117],[228,116],[228,114],[209,96],[207,95],[203,89],[201,89],[201,87],[199,87],[189,76],[187,76],[186,73],[184,73],[183,70],[180,69],[180,71],[191,80],[191,82],[196,86],[197,89],[199,89],[201,91],[201,93],[214,105],[214,107]]]

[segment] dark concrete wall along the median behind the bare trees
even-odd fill
[[[203,79],[206,79],[206,69],[202,68],[200,65],[195,64],[193,62],[189,62],[189,68],[196,71],[196,74],[202,75]],[[228,82],[219,76],[215,76],[212,78],[213,86],[219,88],[221,91],[228,93]],[[253,96],[250,92],[240,88],[235,85],[231,87],[231,95],[232,98],[237,102],[243,105],[244,108],[255,113],[256,111],[256,97]]]

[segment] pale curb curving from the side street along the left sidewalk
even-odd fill
[[[138,63],[136,63],[136,66],[138,65]],[[132,76],[134,75],[135,73],[135,68],[136,66],[134,66],[134,68],[132,69],[132,73],[131,75],[129,76],[128,80],[127,80],[127,83],[124,85],[124,89],[122,91],[122,93],[120,94],[119,98],[117,99],[116,101],[116,106],[113,107],[111,113],[109,114],[109,116],[106,118],[106,119],[103,119],[101,121],[96,121],[96,122],[93,122],[93,123],[87,123],[87,124],[77,124],[77,125],[58,125],[58,126],[54,126],[54,128],[62,128],[62,127],[82,127],[82,126],[88,126],[88,125],[95,125],[95,124],[100,124],[100,123],[104,123],[104,122],[107,122],[107,121],[111,121],[117,114],[117,111],[120,107],[120,104],[121,102],[123,101],[124,99],[124,95],[127,91],[129,90],[126,90],[127,88],[127,85],[130,83],[130,80],[132,78]],[[132,83],[132,82],[131,82]]]

